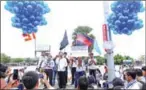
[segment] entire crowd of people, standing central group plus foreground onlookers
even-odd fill
[[[72,74],[71,85],[78,90],[108,89],[110,84],[113,90],[146,89],[146,66],[126,69],[121,72],[121,78],[116,77],[108,82],[108,68],[104,67],[105,73],[102,75],[96,63],[93,53],[89,54],[85,64],[82,57],[67,57],[66,52],[59,52],[54,58],[50,53],[42,52],[36,71],[25,72],[21,69],[15,75],[16,72],[11,73],[10,67],[0,64],[0,89],[58,89],[55,87],[57,82],[59,89],[65,89],[69,81],[68,69]]]

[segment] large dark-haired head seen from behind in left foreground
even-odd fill
[[[38,74],[34,71],[29,71],[22,77],[22,82],[26,89],[34,89],[39,80]]]

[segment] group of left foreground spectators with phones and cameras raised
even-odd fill
[[[21,70],[18,70],[18,72],[23,73]],[[40,89],[41,85],[44,85],[46,89],[54,89],[48,80],[49,78],[47,78],[47,75],[44,72],[38,74],[35,71],[28,71],[24,73],[23,76],[20,76],[20,74],[16,76],[15,71],[11,73],[10,67],[0,64],[0,90]]]

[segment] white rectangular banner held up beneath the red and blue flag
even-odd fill
[[[88,46],[72,46],[71,47],[71,56],[88,56]]]

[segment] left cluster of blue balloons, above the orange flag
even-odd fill
[[[43,15],[50,12],[43,1],[7,1],[5,9],[15,15],[11,18],[12,26],[22,29],[23,34],[36,33],[38,25],[46,25]]]

